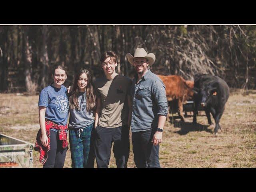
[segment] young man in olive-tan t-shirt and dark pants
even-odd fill
[[[118,56],[108,51],[100,62],[104,77],[94,82],[97,104],[95,114],[95,158],[98,168],[108,168],[111,146],[117,168],[127,168],[130,152],[130,86],[132,81],[116,73]]]

